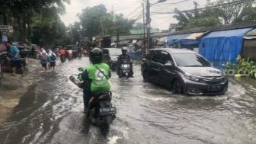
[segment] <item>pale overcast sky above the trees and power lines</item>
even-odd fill
[[[152,5],[151,7],[151,27],[160,28],[161,30],[167,30],[170,23],[177,23],[172,18],[173,14],[154,14],[154,12],[166,12],[174,11],[174,8],[179,10],[188,10],[194,8],[194,1],[202,8],[206,5],[206,0],[166,0],[166,2]],[[214,0],[212,0],[214,1]],[[139,14],[142,14],[142,0],[70,0],[70,4],[66,4],[66,14],[61,16],[62,21],[66,24],[72,24],[75,21],[79,21],[76,16],[86,7],[92,7],[95,5],[103,4],[106,6],[107,11],[112,11],[112,8],[116,14],[123,14],[126,18],[138,18]],[[149,0],[150,3],[158,2],[158,0]],[[174,2],[181,2],[179,4],[170,4]],[[139,8],[138,8],[139,7]],[[136,11],[134,11],[137,8]],[[133,12],[134,11],[134,12]],[[133,12],[133,13],[132,13]],[[137,22],[142,22],[142,19]]]

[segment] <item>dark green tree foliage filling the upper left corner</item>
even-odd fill
[[[13,40],[50,45],[67,38],[59,14],[69,0],[8,0],[0,2],[0,24],[14,26]]]

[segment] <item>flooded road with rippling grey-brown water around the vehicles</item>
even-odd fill
[[[256,81],[230,79],[226,95],[172,95],[135,78],[110,78],[117,119],[107,137],[82,113],[82,90],[69,75],[88,58],[59,64],[57,72],[35,72],[28,91],[0,126],[0,143],[256,143]]]

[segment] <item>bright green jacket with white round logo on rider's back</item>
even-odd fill
[[[78,78],[84,83],[91,83],[89,85],[91,87],[91,94],[110,91],[110,84],[108,82],[110,78],[110,67],[106,63],[88,66],[85,72]]]

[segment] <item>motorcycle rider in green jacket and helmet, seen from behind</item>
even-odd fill
[[[110,67],[102,62],[103,53],[99,48],[94,48],[90,52],[91,66],[88,66],[84,72],[78,75],[78,79],[82,83],[71,79],[79,88],[83,88],[84,110],[88,112],[89,101],[93,95],[101,94],[110,91]]]

